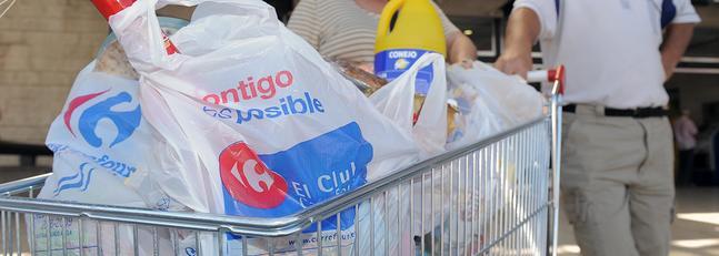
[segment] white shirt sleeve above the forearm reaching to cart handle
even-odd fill
[[[512,10],[527,8],[539,17],[539,39],[551,39],[557,32],[559,2],[556,0],[517,0]]]

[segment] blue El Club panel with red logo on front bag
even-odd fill
[[[367,183],[372,145],[351,122],[287,151],[257,155],[243,142],[220,154],[224,212],[252,217],[280,217],[350,192]],[[352,226],[354,209],[341,213],[341,229]],[[322,229],[337,228],[337,218]],[[304,232],[313,232],[311,226]]]

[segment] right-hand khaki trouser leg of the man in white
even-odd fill
[[[629,187],[631,231],[642,256],[669,254],[675,187],[671,127],[666,119],[640,121],[647,130],[649,154]]]

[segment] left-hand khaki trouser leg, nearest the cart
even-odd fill
[[[646,155],[643,130],[632,119],[577,111],[565,116],[561,188],[581,254],[638,255],[626,188]]]

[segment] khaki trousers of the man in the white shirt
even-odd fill
[[[666,117],[565,113],[562,206],[582,255],[662,256],[673,218],[672,133]]]

